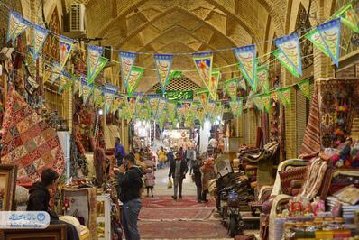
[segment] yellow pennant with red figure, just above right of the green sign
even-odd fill
[[[206,88],[209,90],[209,84],[212,79],[212,63],[213,53],[202,52],[193,54],[193,60],[195,61],[196,69],[198,70],[199,77],[202,79]]]

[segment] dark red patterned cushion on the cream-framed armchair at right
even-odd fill
[[[281,189],[284,194],[291,195],[290,182],[292,180],[304,180],[307,167],[295,167],[285,171],[279,171],[281,177]]]

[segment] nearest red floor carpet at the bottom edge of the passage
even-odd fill
[[[138,222],[142,239],[214,239],[226,238],[219,221]]]

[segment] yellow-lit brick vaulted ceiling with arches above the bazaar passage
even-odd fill
[[[286,0],[86,0],[87,35],[102,37],[102,45],[124,51],[176,53],[215,51],[268,38],[284,32]],[[266,33],[267,32],[267,33]],[[260,54],[264,44],[258,44]],[[115,54],[116,55],[116,54]],[[116,56],[115,56],[116,57]],[[217,52],[214,67],[235,63],[231,51]],[[154,69],[152,55],[141,54],[137,65]],[[191,55],[174,57],[172,69],[195,69]],[[236,67],[222,69],[223,78],[237,76]],[[233,72],[233,73],[232,73]],[[185,73],[203,86],[196,72]],[[158,82],[148,70],[139,90]]]

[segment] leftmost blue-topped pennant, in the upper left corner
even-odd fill
[[[23,18],[23,16],[14,10],[9,13],[9,23],[7,28],[6,42],[12,40],[15,42],[17,36],[25,31],[32,23]]]

